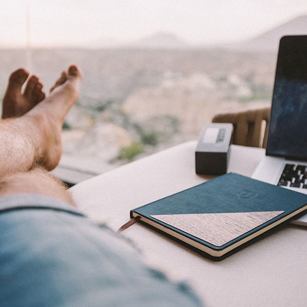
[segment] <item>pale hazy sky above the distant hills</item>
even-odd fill
[[[28,36],[26,15],[28,12]],[[299,15],[306,0],[1,0],[0,46],[103,47],[156,32],[192,45],[259,35]]]

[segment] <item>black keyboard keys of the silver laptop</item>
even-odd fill
[[[277,185],[307,189],[307,166],[286,164]]]

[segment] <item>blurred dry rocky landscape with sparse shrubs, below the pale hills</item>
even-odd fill
[[[0,90],[26,63],[0,50]],[[32,50],[31,71],[46,87],[70,63],[84,81],[64,128],[64,152],[117,166],[197,139],[218,113],[269,105],[276,53],[210,49]]]

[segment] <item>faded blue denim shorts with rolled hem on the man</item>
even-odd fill
[[[107,227],[42,195],[0,199],[0,305],[200,306]]]

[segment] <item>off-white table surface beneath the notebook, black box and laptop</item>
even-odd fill
[[[72,187],[77,206],[116,230],[130,209],[200,184],[196,142],[129,163]],[[251,176],[265,150],[232,145],[228,172]],[[90,195],[90,196],[89,196]],[[287,225],[222,261],[209,260],[136,224],[123,232],[144,259],[171,278],[186,280],[207,306],[306,306],[307,231]]]

